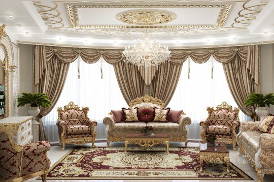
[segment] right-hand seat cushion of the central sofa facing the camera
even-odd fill
[[[179,131],[180,125],[173,122],[149,122],[148,126],[153,127],[153,131]]]

